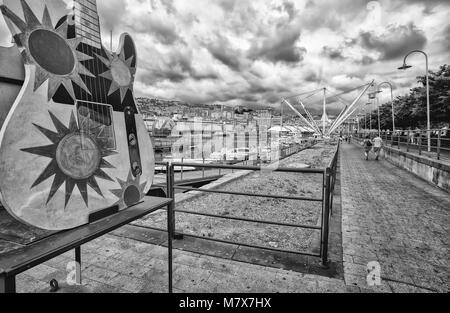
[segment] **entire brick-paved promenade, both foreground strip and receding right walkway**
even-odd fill
[[[176,250],[176,292],[447,292],[448,193],[390,163],[365,161],[361,147],[343,144],[340,158],[343,278]],[[338,197],[339,199],[339,197]],[[161,239],[161,243],[164,238]],[[91,292],[167,292],[167,249],[108,235],[83,250]],[[19,292],[64,282],[67,253],[18,276]],[[367,285],[367,264],[381,266],[382,284]]]

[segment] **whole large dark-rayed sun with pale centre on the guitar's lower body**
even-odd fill
[[[103,169],[114,168],[105,158],[116,152],[104,147],[102,141],[97,139],[101,129],[98,129],[97,132],[93,130],[90,133],[80,131],[73,113],[68,127],[61,123],[53,113],[49,112],[49,114],[56,132],[36,124],[34,126],[51,141],[51,144],[22,149],[23,152],[51,159],[50,164],[39,175],[32,188],[55,176],[47,203],[65,183],[65,206],[67,207],[76,185],[86,206],[89,207],[87,186],[103,197],[97,178],[114,181]]]

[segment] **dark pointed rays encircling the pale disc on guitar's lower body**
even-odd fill
[[[81,196],[83,197],[83,200],[87,207],[89,207],[88,202],[88,190],[87,186],[90,186],[97,194],[99,194],[101,197],[103,196],[102,191],[100,190],[100,187],[97,183],[96,178],[108,180],[108,181],[114,181],[111,179],[111,177],[108,176],[102,169],[107,168],[114,168],[113,165],[111,165],[109,162],[105,160],[106,157],[116,154],[116,152],[112,150],[108,150],[102,146],[101,143],[98,143],[98,149],[99,149],[99,160],[98,165],[90,172],[90,175],[85,178],[76,178],[71,177],[70,175],[67,175],[64,170],[60,166],[60,160],[57,159],[58,155],[58,149],[60,149],[60,144],[68,138],[68,136],[77,135],[80,138],[92,138],[93,140],[96,139],[98,136],[98,131],[91,133],[91,134],[84,134],[80,131],[80,128],[77,124],[77,121],[75,119],[75,115],[72,112],[72,115],[70,117],[70,123],[69,126],[66,127],[53,113],[49,112],[51,120],[53,122],[53,125],[56,128],[56,132],[53,132],[49,129],[43,128],[39,125],[33,124],[46,138],[48,138],[51,141],[50,145],[47,146],[40,146],[35,148],[27,148],[22,149],[23,152],[31,153],[34,155],[50,158],[51,162],[47,166],[47,168],[42,172],[41,175],[36,179],[33,186],[31,188],[34,188],[47,179],[49,179],[52,176],[55,176],[53,180],[53,184],[50,190],[50,194],[47,199],[47,204],[51,201],[51,199],[55,196],[56,192],[59,190],[59,188],[63,185],[63,183],[66,184],[66,199],[65,199],[65,207],[67,207],[70,198],[73,194],[73,190],[75,188],[75,185],[78,187],[78,190],[81,193]]]

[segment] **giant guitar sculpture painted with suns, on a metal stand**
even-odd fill
[[[0,132],[3,206],[28,225],[65,230],[142,201],[154,155],[133,97],[131,37],[121,36],[117,53],[101,45],[95,0],[59,16],[45,1],[4,4],[25,82]]]

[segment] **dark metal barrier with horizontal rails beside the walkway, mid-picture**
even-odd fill
[[[167,197],[175,199],[175,194],[177,190],[181,190],[184,192],[189,191],[197,191],[197,192],[203,192],[203,193],[210,193],[210,194],[226,194],[226,195],[234,195],[234,196],[245,196],[245,197],[256,197],[256,198],[271,198],[271,199],[282,199],[282,200],[296,200],[296,201],[305,201],[305,202],[320,202],[322,203],[322,212],[321,212],[321,223],[320,226],[318,225],[300,225],[300,224],[290,224],[290,223],[282,223],[282,222],[275,222],[275,221],[268,221],[268,220],[257,220],[257,219],[250,219],[250,218],[244,218],[244,217],[233,217],[233,216],[223,216],[223,215],[216,215],[216,214],[209,214],[209,213],[203,213],[203,212],[194,212],[194,211],[188,211],[188,210],[181,210],[175,208],[175,201],[172,204],[172,207],[169,208],[169,221],[168,225],[170,225],[169,229],[172,229],[172,232],[170,233],[171,238],[173,239],[181,239],[184,236],[191,237],[191,238],[198,238],[203,239],[207,241],[212,242],[218,242],[218,243],[225,243],[225,244],[233,244],[233,245],[239,245],[243,247],[250,247],[250,248],[257,248],[262,250],[268,250],[268,251],[275,251],[275,252],[285,252],[285,253],[293,253],[297,255],[306,255],[306,256],[313,256],[321,258],[322,264],[324,266],[327,266],[328,264],[328,245],[329,245],[329,233],[330,233],[330,218],[332,216],[332,210],[333,210],[333,199],[334,199],[334,190],[336,185],[336,174],[337,174],[337,168],[338,168],[338,157],[339,157],[339,144],[337,146],[337,150],[333,156],[333,159],[331,160],[330,164],[325,169],[305,169],[305,168],[277,168],[273,169],[273,172],[279,172],[279,173],[303,173],[303,174],[311,174],[311,175],[322,175],[323,176],[323,188],[322,188],[322,195],[321,197],[312,198],[312,197],[294,197],[294,196],[279,196],[279,195],[267,195],[267,194],[252,194],[252,193],[246,193],[246,192],[231,192],[231,191],[221,191],[216,189],[204,189],[204,188],[191,188],[186,187],[182,185],[178,185],[175,182],[175,167],[180,166],[191,166],[196,168],[203,168],[203,169],[221,169],[221,170],[242,170],[242,171],[254,171],[258,172],[263,170],[261,167],[257,166],[239,166],[239,165],[217,165],[217,164],[188,164],[188,163],[165,163],[165,166],[167,168],[166,172],[166,188],[167,188]],[[294,151],[292,151],[294,153]],[[241,221],[241,222],[250,222],[250,223],[256,223],[256,224],[264,224],[264,225],[272,225],[272,226],[278,226],[278,227],[289,227],[289,228],[299,228],[299,229],[309,229],[314,231],[320,231],[320,253],[314,254],[304,251],[291,251],[291,250],[283,250],[283,249],[277,249],[277,248],[271,248],[266,246],[259,246],[259,245],[251,245],[247,243],[242,242],[234,242],[230,240],[223,240],[223,239],[216,239],[216,238],[209,238],[209,237],[202,237],[198,235],[192,235],[192,234],[185,234],[181,232],[176,232],[175,227],[175,214],[176,213],[182,213],[182,214],[189,214],[189,215],[196,215],[196,216],[202,216],[202,217],[209,217],[214,219],[226,219],[226,220],[233,220],[233,221]],[[156,228],[155,228],[156,229]],[[159,229],[162,230],[162,229]],[[164,230],[165,231],[165,230]]]

